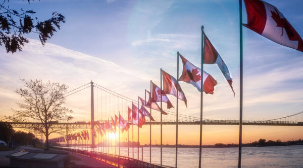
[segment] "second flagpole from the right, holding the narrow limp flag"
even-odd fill
[[[203,122],[203,62],[204,62],[204,26],[201,27],[201,102],[200,102],[200,148],[199,148],[199,168],[202,159],[202,122]]]

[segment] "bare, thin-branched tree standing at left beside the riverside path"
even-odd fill
[[[41,122],[41,125],[28,125],[27,129],[35,130],[46,136],[46,147],[49,150],[49,135],[52,133],[62,134],[64,128],[54,127],[60,121],[69,121],[72,110],[64,107],[64,92],[67,86],[59,83],[43,83],[39,80],[21,79],[26,88],[19,88],[16,93],[21,96],[22,101],[17,102],[21,110],[13,110],[17,122]]]

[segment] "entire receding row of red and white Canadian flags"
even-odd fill
[[[243,26],[253,30],[254,32],[276,42],[281,45],[297,49],[303,52],[303,40],[301,36],[297,33],[297,31],[292,27],[289,21],[284,17],[284,15],[273,5],[264,2],[262,0],[244,0],[245,6],[247,9],[247,17],[248,23],[243,24]],[[208,37],[204,34],[204,60],[203,64],[217,64],[219,69],[221,70],[223,76],[227,80],[234,96],[235,92],[232,87],[232,77],[223,61],[222,57],[219,55],[217,50],[211,44]],[[214,86],[217,84],[216,80],[207,72],[203,70],[203,79],[201,68],[195,66],[191,62],[189,62],[186,58],[184,58],[181,54],[179,54],[182,64],[183,71],[181,76],[179,77],[179,81],[190,83],[195,86],[201,92],[201,82],[203,82],[203,91],[206,94],[213,94]],[[161,114],[167,115],[167,113],[159,107],[157,102],[161,101],[167,103],[167,108],[170,109],[174,107],[168,97],[166,95],[172,95],[178,97],[179,100],[184,101],[187,106],[187,100],[183,90],[178,84],[178,95],[177,95],[177,79],[172,75],[167,73],[164,70],[161,70],[162,80],[163,80],[163,90],[161,90],[156,84],[152,82],[152,93],[146,90],[148,93],[148,101],[143,100],[139,97],[141,101],[141,108],[138,109],[134,103],[132,103],[132,108],[128,107],[128,121],[132,125],[137,125],[138,127],[142,127],[145,124],[145,117],[149,117],[152,121],[154,121],[152,115],[145,108],[151,108],[153,110],[160,111]],[[152,95],[151,95],[152,94]],[[151,99],[150,99],[151,98]],[[119,117],[115,115],[115,119],[111,118],[111,123],[106,121],[105,123],[101,123],[96,126],[97,133],[101,136],[106,133],[106,130],[110,132],[116,131],[116,126],[120,127],[120,130],[127,131],[129,129],[129,124],[127,121],[123,119],[123,117],[119,114]],[[114,129],[112,128],[114,127]],[[97,136],[97,133],[92,130],[92,136]],[[81,133],[76,134],[68,134],[66,135],[66,140],[76,140],[79,138],[88,138],[89,134],[87,131],[83,131]],[[53,138],[50,139],[50,142],[60,142],[64,141],[64,137]]]

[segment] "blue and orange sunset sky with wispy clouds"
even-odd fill
[[[266,0],[275,5],[303,36],[301,0]],[[239,119],[239,4],[238,0],[41,0],[30,4],[10,1],[16,9],[33,9],[39,19],[57,11],[66,23],[42,46],[38,34],[26,35],[30,43],[22,52],[7,54],[0,46],[0,118],[11,115],[20,101],[14,92],[20,79],[42,79],[77,88],[95,83],[134,100],[144,97],[150,80],[160,84],[160,68],[177,74],[177,51],[196,66],[201,65],[201,26],[228,66],[233,93],[216,65],[204,70],[218,82],[213,95],[203,96],[203,118]],[[34,15],[36,16],[36,15]],[[243,23],[246,23],[243,7]],[[303,111],[303,53],[274,43],[243,27],[243,119],[269,120]],[[179,74],[182,72],[181,60]],[[179,101],[179,113],[200,116],[200,92],[180,82],[188,107]],[[95,89],[95,116],[107,119],[127,104],[101,107],[106,95]],[[108,98],[107,99],[113,99]],[[176,101],[168,96],[173,105]],[[108,101],[108,100],[107,100]],[[116,102],[118,100],[115,100]],[[165,103],[163,103],[165,106]],[[67,98],[73,121],[90,120],[90,90]],[[128,104],[129,105],[129,104]],[[106,107],[107,108],[107,107]],[[170,109],[175,111],[175,108]],[[158,115],[158,114],[154,114]],[[136,129],[135,129],[136,130]],[[188,131],[191,130],[191,131]],[[142,133],[141,133],[142,132]],[[134,134],[137,134],[136,132]],[[140,134],[149,143],[149,127]],[[152,127],[152,143],[159,143],[159,127]],[[203,144],[238,143],[239,126],[203,126]],[[127,134],[123,134],[124,139]],[[175,143],[175,126],[163,126],[163,143]],[[303,138],[300,127],[244,126],[243,142],[259,138],[290,140]],[[179,126],[179,142],[199,144],[199,126]]]

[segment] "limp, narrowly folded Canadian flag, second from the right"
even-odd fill
[[[226,64],[224,63],[224,61],[222,60],[221,56],[219,55],[219,53],[211,44],[211,42],[209,41],[209,39],[205,34],[204,34],[204,64],[217,64],[217,66],[220,68],[221,72],[223,73],[225,79],[227,80],[235,96],[235,91],[232,87],[233,79],[230,76],[229,70]]]

